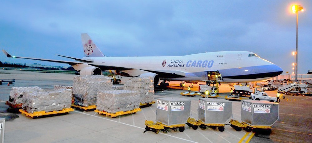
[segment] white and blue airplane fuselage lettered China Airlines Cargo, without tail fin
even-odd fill
[[[146,71],[185,73],[185,77],[160,77],[161,80],[169,81],[203,81],[207,80],[207,71],[219,71],[223,82],[251,82],[268,79],[282,72],[275,64],[246,51],[206,52],[167,57],[83,57],[83,59],[94,61],[91,65],[134,69],[121,71],[131,76],[139,76]]]

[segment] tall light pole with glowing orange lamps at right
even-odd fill
[[[297,14],[297,35],[296,35],[296,53],[295,53],[295,82],[298,81],[298,11],[304,11],[301,5],[293,5],[292,11]]]

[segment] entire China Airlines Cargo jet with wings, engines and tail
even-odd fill
[[[221,75],[222,82],[252,82],[280,75],[283,70],[255,53],[246,51],[206,52],[185,56],[166,57],[106,57],[87,33],[81,34],[85,57],[60,61],[30,57],[11,56],[71,65],[79,75],[102,74],[102,71],[130,77],[151,76],[154,84],[163,81],[209,81],[212,73]]]

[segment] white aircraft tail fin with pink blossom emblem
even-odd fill
[[[87,33],[81,34],[81,42],[85,57],[105,57]]]

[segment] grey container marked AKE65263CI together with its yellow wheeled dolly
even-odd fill
[[[198,126],[204,130],[211,127],[213,130],[224,131],[224,126],[232,118],[232,102],[224,99],[199,99],[198,120],[188,118],[187,125],[194,130]]]

